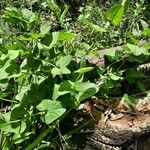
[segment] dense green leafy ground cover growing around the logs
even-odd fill
[[[148,7],[143,0],[1,0],[0,149],[70,148],[77,129],[60,124],[94,95],[134,107],[134,96],[150,90],[150,74],[137,69],[150,62]],[[105,66],[91,64],[101,50]]]

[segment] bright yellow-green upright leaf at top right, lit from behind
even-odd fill
[[[119,25],[124,15],[124,6],[118,5],[110,9],[106,14],[106,18],[110,20],[114,25]]]

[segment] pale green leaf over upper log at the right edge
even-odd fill
[[[129,44],[129,43],[127,44],[127,47],[130,49],[131,53],[133,53],[133,55],[135,55],[135,56],[139,56],[141,54],[148,53],[147,49],[145,49],[143,47],[141,48],[141,47]]]

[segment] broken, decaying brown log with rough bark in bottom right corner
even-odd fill
[[[150,148],[150,95],[145,98],[137,98],[137,105],[133,109],[125,104],[110,102],[102,107],[96,107],[95,103],[90,106],[89,117],[83,117],[82,121],[91,120],[92,123],[86,129],[75,134],[77,149],[81,150],[149,150]],[[104,103],[100,100],[100,104]],[[109,107],[111,106],[111,107]],[[100,108],[100,110],[98,109]],[[111,111],[108,111],[111,110]],[[109,113],[108,113],[109,112]],[[117,118],[118,114],[122,114]],[[114,119],[112,119],[112,114]],[[116,118],[115,118],[116,117]],[[94,119],[93,119],[94,118]],[[80,118],[81,120],[81,118]]]

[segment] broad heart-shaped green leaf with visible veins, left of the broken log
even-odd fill
[[[42,100],[42,102],[37,106],[37,109],[39,111],[46,111],[46,115],[43,120],[46,124],[56,121],[66,111],[59,101],[51,101],[49,99]]]

